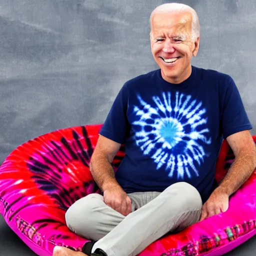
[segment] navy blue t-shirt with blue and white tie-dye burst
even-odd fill
[[[205,201],[223,138],[251,128],[233,79],[192,66],[179,84],[160,69],[125,82],[99,133],[125,144],[115,177],[127,193],[185,181]]]

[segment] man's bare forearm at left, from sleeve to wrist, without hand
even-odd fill
[[[102,135],[98,137],[90,160],[90,171],[102,191],[111,186],[119,185],[114,177],[111,162],[120,146],[121,144]]]

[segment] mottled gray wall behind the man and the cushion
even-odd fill
[[[200,18],[192,63],[234,78],[255,134],[256,1],[177,1]],[[148,18],[164,2],[0,0],[0,162],[38,135],[102,123],[122,84],[158,67]]]

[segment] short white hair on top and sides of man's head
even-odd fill
[[[166,12],[171,13],[171,12],[182,12],[182,11],[188,11],[192,15],[192,40],[196,40],[197,37],[200,35],[200,24],[199,24],[197,13],[192,7],[183,3],[170,2],[170,3],[164,3],[157,6],[151,12],[150,19],[149,19],[150,27],[152,25],[152,17],[155,13],[166,13]]]

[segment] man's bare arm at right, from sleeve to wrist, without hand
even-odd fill
[[[232,148],[235,158],[216,190],[230,196],[250,177],[255,169],[256,147],[248,130],[234,133],[226,140]]]

